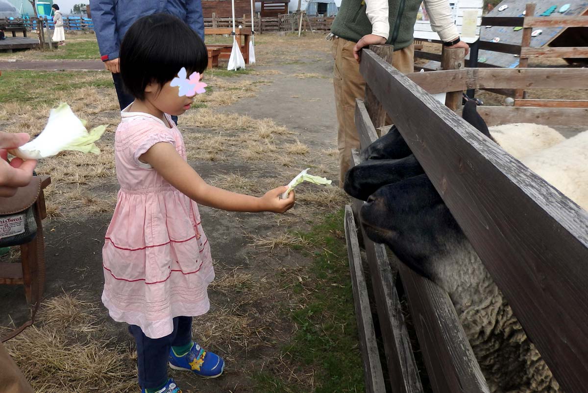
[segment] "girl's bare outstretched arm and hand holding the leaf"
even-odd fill
[[[176,152],[171,143],[159,142],[143,153],[139,160],[150,164],[163,179],[196,202],[228,211],[273,211],[283,213],[294,205],[294,193],[279,199],[286,186],[270,190],[258,198],[237,194],[206,184],[192,167]]]

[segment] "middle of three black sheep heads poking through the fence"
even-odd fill
[[[425,172],[412,154],[399,160],[369,160],[345,174],[343,189],[352,197],[368,200],[380,187],[422,173]]]

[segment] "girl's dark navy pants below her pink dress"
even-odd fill
[[[192,342],[192,317],[173,318],[173,332],[162,338],[149,338],[136,325],[129,325],[129,332],[137,343],[139,386],[155,389],[168,381],[171,347],[182,347]]]

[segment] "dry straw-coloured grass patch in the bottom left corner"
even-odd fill
[[[41,305],[37,324],[6,342],[35,392],[136,390],[131,352],[96,335],[103,330],[96,310],[74,294],[54,297]]]

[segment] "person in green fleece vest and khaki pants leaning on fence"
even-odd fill
[[[403,73],[413,72],[413,28],[423,0],[342,0],[331,27],[333,85],[337,110],[340,186],[351,162],[351,150],[359,148],[353,116],[355,99],[365,96],[365,81],[359,73],[360,51],[368,45],[394,46],[392,65]],[[433,31],[449,48],[466,48],[453,23],[448,0],[425,0]]]

